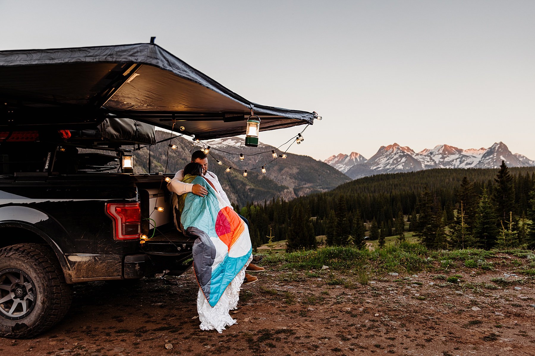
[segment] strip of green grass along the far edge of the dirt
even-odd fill
[[[355,282],[367,284],[369,276],[366,272],[375,273],[415,273],[418,271],[437,271],[442,268],[447,272],[451,268],[468,267],[480,270],[493,270],[494,264],[487,261],[489,258],[497,258],[497,254],[515,254],[530,259],[531,251],[524,250],[427,250],[422,244],[411,242],[396,242],[387,244],[382,249],[357,249],[350,246],[332,246],[317,250],[297,251],[268,255],[263,262],[278,270],[285,271],[281,275],[283,281],[304,281],[307,278],[324,276],[327,271],[322,271],[322,266],[328,266],[330,271],[352,271],[357,276]],[[535,263],[535,256],[533,257]],[[500,263],[498,261],[497,263]],[[528,266],[526,266],[528,267]],[[524,268],[526,268],[524,267]],[[521,269],[519,273],[528,276],[535,275],[535,268]],[[315,270],[315,271],[312,271]],[[305,271],[298,273],[297,271]],[[447,274],[447,273],[446,273]],[[461,279],[461,276],[457,279]],[[446,279],[446,276],[435,276],[437,279]],[[332,284],[343,282],[335,278],[328,278]]]

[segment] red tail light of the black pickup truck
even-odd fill
[[[140,238],[141,209],[139,203],[107,203],[106,213],[113,220],[114,239],[133,240]]]

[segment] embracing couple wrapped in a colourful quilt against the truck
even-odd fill
[[[250,264],[253,248],[248,221],[234,211],[217,176],[208,171],[208,156],[202,151],[192,154],[192,162],[167,187],[177,193],[173,195],[173,211],[180,214],[180,219],[175,218],[177,227],[195,238],[193,269],[200,287],[200,327],[221,333],[236,322],[228,312],[238,304],[241,284],[257,280],[246,275],[246,268],[263,270]]]

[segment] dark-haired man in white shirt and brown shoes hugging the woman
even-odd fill
[[[228,200],[227,194],[219,183],[219,179],[217,179],[215,173],[208,171],[208,156],[200,150],[195,151],[194,153],[192,153],[192,162],[196,162],[202,165],[204,179],[208,180],[209,183],[212,184],[213,188],[216,189],[216,192],[219,193],[225,203],[227,203],[228,206],[230,206],[232,210],[234,210],[234,207],[232,207],[231,202]],[[181,181],[182,178],[184,178],[183,172],[184,170],[181,169],[174,175],[173,179],[171,179],[171,181],[167,184],[167,189],[169,189],[171,192],[177,193],[178,195],[193,193],[198,196],[206,196],[208,194],[207,189],[200,184],[184,183],[183,181]],[[247,227],[249,227],[249,221],[247,221],[247,219],[243,216],[239,216],[247,224]],[[255,256],[255,258],[257,258],[259,262],[258,257],[260,256]],[[260,272],[264,271],[264,267],[259,267],[250,263],[246,271]],[[244,283],[253,283],[257,280],[258,278],[256,278],[255,276],[246,274]]]

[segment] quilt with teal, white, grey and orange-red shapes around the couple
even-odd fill
[[[187,175],[182,181],[200,184],[208,190],[204,197],[183,194],[178,204],[182,231],[196,239],[193,269],[197,282],[214,307],[251,256],[249,229],[203,177]]]

